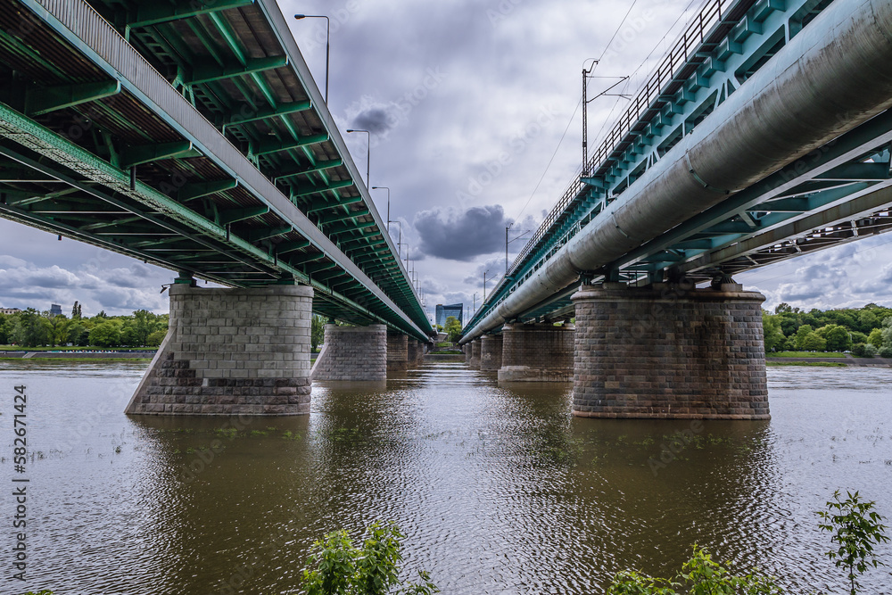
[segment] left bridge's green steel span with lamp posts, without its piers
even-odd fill
[[[275,0],[0,0],[0,216],[432,332]]]

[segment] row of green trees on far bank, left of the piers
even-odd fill
[[[0,343],[21,347],[157,347],[167,335],[168,315],[136,310],[128,316],[81,316],[74,302],[71,316],[34,308],[0,314]]]

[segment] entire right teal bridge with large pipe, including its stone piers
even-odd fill
[[[467,322],[472,367],[573,380],[578,416],[769,417],[733,275],[892,228],[890,40],[888,1],[706,2]]]

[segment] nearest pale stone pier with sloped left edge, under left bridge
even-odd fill
[[[310,413],[310,312],[303,285],[170,285],[169,332],[125,413]]]

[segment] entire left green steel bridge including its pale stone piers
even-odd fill
[[[178,271],[128,412],[307,412],[310,312],[353,325],[320,378],[383,378],[433,333],[286,23],[275,0],[0,0],[0,216]]]

